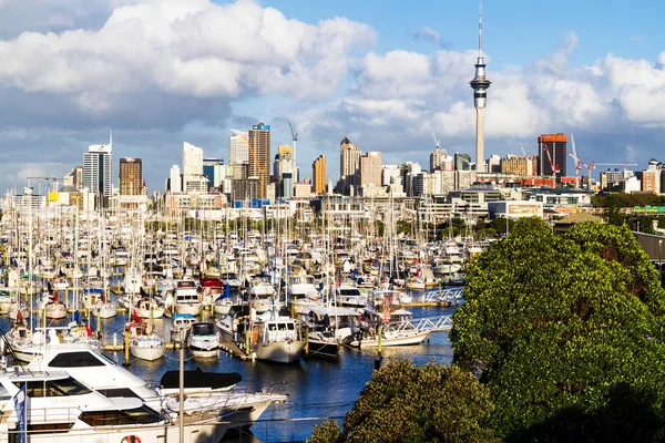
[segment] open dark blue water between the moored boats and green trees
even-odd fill
[[[454,308],[410,308],[413,318],[450,315]],[[113,332],[122,330],[126,318],[120,315],[113,319],[101,320],[102,342],[111,343]],[[168,337],[170,320],[156,319],[155,327]],[[50,326],[65,326],[66,322]],[[96,320],[91,319],[92,329],[96,329]],[[0,318],[2,331],[9,329],[9,320]],[[117,340],[121,341],[120,333]],[[106,352],[112,360],[123,363],[123,352]],[[219,353],[217,359],[193,359],[186,356],[185,369],[201,367],[207,371],[239,372],[243,375],[242,387],[250,390],[267,390],[287,394],[285,403],[269,406],[260,420],[254,424],[252,432],[255,440],[262,442],[304,441],[311,434],[315,424],[328,419],[336,419],[340,424],[344,414],[354,406],[354,402],[365,384],[371,379],[375,368],[376,350],[341,349],[338,361],[301,360],[293,365],[278,365],[260,361],[242,361],[237,358]],[[130,357],[129,370],[149,382],[160,380],[164,371],[178,368],[178,351],[166,351],[164,359],[149,362]],[[437,332],[429,341],[413,347],[383,348],[382,363],[392,359],[407,358],[416,364],[424,364],[436,360],[450,363],[452,348],[448,333]],[[242,436],[241,441],[250,441]]]

